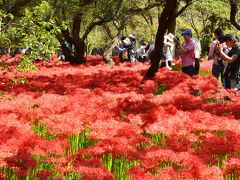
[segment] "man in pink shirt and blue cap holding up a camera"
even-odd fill
[[[193,64],[195,62],[195,44],[192,39],[192,30],[184,30],[182,32],[182,36],[185,40],[185,44],[183,46],[180,45],[179,41],[175,39],[178,53],[182,59],[182,72],[189,76],[193,76],[195,74],[195,70],[193,67]]]

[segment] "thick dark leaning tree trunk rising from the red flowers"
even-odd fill
[[[159,62],[163,56],[163,40],[166,30],[169,28],[173,20],[176,19],[175,10],[177,8],[177,0],[168,0],[158,20],[158,30],[155,40],[154,57],[150,68],[148,69],[145,78],[154,77],[158,71]]]

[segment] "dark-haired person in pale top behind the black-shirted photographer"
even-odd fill
[[[215,39],[212,41],[209,52],[208,52],[208,60],[213,59],[212,75],[217,79],[220,77],[221,82],[224,84],[224,77],[223,77],[224,64],[221,61],[221,59],[219,59],[218,55],[215,52],[216,46],[224,42],[224,33],[221,28],[215,29],[214,38]],[[226,47],[226,45],[224,45],[224,47]]]

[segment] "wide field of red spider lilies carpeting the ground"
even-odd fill
[[[240,95],[210,75],[147,63],[38,62],[4,55],[0,179],[238,179]],[[204,75],[203,75],[204,74]]]

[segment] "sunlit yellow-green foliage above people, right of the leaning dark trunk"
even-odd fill
[[[193,36],[201,41],[202,55],[206,55],[209,45],[214,38],[213,32],[216,28],[222,28],[226,33],[237,31],[231,26],[229,15],[230,7],[228,1],[222,0],[198,0],[178,18],[178,28],[191,28]],[[231,30],[232,29],[232,30]]]

